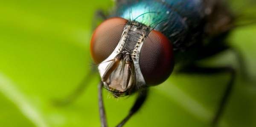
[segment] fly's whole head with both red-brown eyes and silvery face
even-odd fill
[[[93,33],[91,55],[101,80],[115,96],[165,81],[174,66],[173,49],[159,31],[120,17],[110,18]]]

